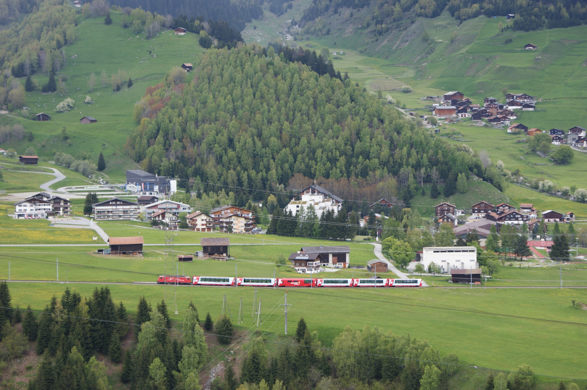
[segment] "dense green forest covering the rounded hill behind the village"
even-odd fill
[[[210,50],[189,85],[172,70],[148,87],[133,111],[140,125],[127,139],[131,158],[185,189],[241,187],[254,199],[296,173],[374,185],[397,177],[404,200],[417,185],[459,175],[501,188],[497,169],[467,146],[435,138],[348,79],[319,76],[273,47],[266,53],[254,45]]]

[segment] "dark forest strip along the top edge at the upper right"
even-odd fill
[[[301,21],[311,22],[328,12],[339,13],[341,8],[357,9],[369,6],[369,1],[351,0],[313,0],[304,10]],[[477,18],[485,15],[516,15],[512,22],[515,30],[537,30],[541,28],[570,27],[581,25],[587,20],[587,1],[562,0],[555,4],[537,0],[379,0],[376,2],[370,18],[363,22],[363,28],[389,26],[402,18],[424,16],[435,18],[448,6],[451,16],[458,20]],[[345,16],[345,19],[348,19]],[[316,29],[312,29],[316,30]],[[321,30],[321,29],[319,29]]]

